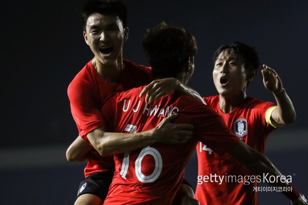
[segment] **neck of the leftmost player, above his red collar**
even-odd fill
[[[120,81],[123,62],[122,58],[114,62],[114,64],[103,64],[97,59],[92,60],[94,69],[99,73],[100,77],[110,84],[116,84]]]

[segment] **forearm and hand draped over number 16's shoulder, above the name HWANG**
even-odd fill
[[[203,104],[206,104],[196,90],[187,87],[176,78],[165,78],[152,81],[141,91],[139,97],[146,94],[145,102],[151,103],[162,96],[171,94],[174,91],[179,91],[187,96],[195,98]]]

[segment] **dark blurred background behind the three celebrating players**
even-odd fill
[[[82,35],[83,2],[1,3],[0,174],[6,185],[0,189],[0,204],[73,204],[84,164],[65,161],[66,147],[78,135],[67,86],[93,57]],[[268,156],[282,173],[296,173],[293,183],[308,195],[303,157],[308,154],[308,1],[123,2],[129,26],[124,58],[148,65],[141,49],[145,30],[162,21],[182,26],[198,42],[188,85],[201,96],[216,95],[211,57],[220,45],[241,41],[256,48],[261,62],[278,72],[297,111],[295,123],[273,133]],[[261,76],[259,72],[247,94],[275,102]],[[186,173],[192,183],[197,179],[194,160]],[[260,204],[269,204],[271,198],[287,204],[277,193],[260,198]]]

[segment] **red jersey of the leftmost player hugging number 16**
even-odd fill
[[[123,60],[121,80],[117,84],[105,82],[92,66],[92,60],[75,76],[68,86],[68,97],[72,116],[78,127],[79,135],[90,143],[86,135],[93,129],[105,125],[100,108],[115,92],[128,90],[145,85],[150,81],[150,68]],[[85,167],[85,177],[88,175],[114,170],[113,156],[101,157],[92,148],[88,164]]]

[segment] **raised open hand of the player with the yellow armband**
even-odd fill
[[[266,65],[263,65],[261,72],[263,76],[263,83],[266,89],[271,90],[275,95],[284,90],[282,87],[281,79],[275,70]]]

